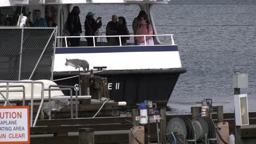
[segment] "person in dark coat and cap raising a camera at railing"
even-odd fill
[[[94,13],[91,11],[86,15],[85,21],[84,21],[84,29],[85,29],[85,36],[93,36],[98,35],[98,29],[101,28],[102,22],[101,17],[97,17],[97,19],[94,19]],[[94,40],[95,40],[95,46],[97,43],[97,38],[86,38],[87,45],[88,46],[94,46]]]

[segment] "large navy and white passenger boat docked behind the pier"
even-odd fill
[[[18,76],[10,76],[10,72],[7,70],[8,66],[6,66],[6,68],[4,67],[3,70],[0,70],[0,74],[2,74],[0,79],[49,79],[56,80],[55,82],[59,85],[68,84],[74,86],[78,83],[78,77],[60,80],[66,77],[77,76],[79,74],[78,69],[74,69],[73,67],[69,66],[67,67],[65,65],[66,59],[84,59],[88,61],[90,68],[107,67],[102,71],[98,71],[95,73],[95,75],[107,77],[108,83],[110,83],[110,85],[108,85],[110,99],[116,101],[126,101],[128,105],[139,103],[144,100],[162,101],[167,103],[173,88],[176,85],[179,75],[185,73],[186,71],[186,69],[182,67],[178,46],[174,43],[173,35],[158,35],[154,25],[154,19],[152,15],[153,4],[167,3],[168,1],[166,0],[4,1],[0,4],[2,15],[4,13],[11,13],[15,15],[15,13],[11,11],[23,8],[22,13],[40,10],[42,13],[41,16],[44,17],[46,14],[45,11],[49,10],[50,6],[55,7],[57,10],[57,28],[0,27],[0,30],[2,30],[0,31],[1,34],[10,33],[10,31],[14,31],[14,29],[16,29],[15,31],[21,31],[21,33],[26,31],[28,33],[27,35],[30,36],[31,41],[36,41],[39,39],[42,40],[42,38],[40,38],[42,35],[49,37],[49,39],[45,40],[45,42],[47,42],[45,43],[46,46],[41,46],[40,41],[37,43],[25,43],[24,37],[26,37],[26,35],[24,33],[24,37],[22,36],[21,40],[19,39],[18,42],[20,43],[21,41],[20,46],[15,45],[16,47],[13,46],[13,49],[7,50],[6,52],[0,54],[0,58],[2,59],[0,62],[13,65],[13,67],[16,69],[16,72],[13,71],[11,75]],[[81,43],[79,47],[68,47],[67,42],[65,41],[67,37],[62,35],[62,29],[64,22],[67,19],[68,13],[72,9],[72,4],[138,4],[141,10],[145,10],[147,12],[149,20],[152,23],[155,45],[138,46],[134,44],[128,44],[127,46],[107,46],[107,43],[102,40],[106,38],[106,36],[100,35],[97,36],[102,40],[100,46],[94,45],[88,47],[85,41],[85,43]],[[33,15],[31,15],[31,19],[33,19]],[[40,31],[42,34],[31,34],[32,31],[37,31],[36,29],[39,29],[38,31]],[[145,37],[145,35],[142,36]],[[168,37],[170,42],[168,44],[162,44],[159,40],[159,37],[162,36]],[[13,36],[7,35],[5,37]],[[19,35],[15,35],[15,37],[19,37]],[[122,36],[118,37],[120,39]],[[130,35],[130,37],[134,36]],[[3,37],[0,38],[3,41]],[[5,43],[8,42],[4,41],[4,43],[2,43],[0,46],[4,47],[5,45],[8,45]],[[51,44],[53,44],[53,46],[51,46]],[[32,52],[35,47],[40,49],[40,52],[37,55],[33,55]],[[48,47],[52,47],[53,49]],[[15,51],[15,56],[10,54],[13,53],[11,52],[12,50]],[[24,50],[22,51],[23,53],[21,50]],[[5,57],[8,59],[13,58],[13,61],[15,62],[7,62],[4,59]]]

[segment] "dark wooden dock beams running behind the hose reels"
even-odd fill
[[[181,115],[167,115],[167,122]],[[192,115],[183,115],[192,118]],[[212,115],[217,119],[217,115]],[[224,122],[229,123],[230,133],[235,133],[234,113],[224,113]],[[95,143],[129,143],[129,130],[133,127],[132,117],[98,117],[75,119],[44,119],[37,122],[36,127],[31,128],[31,144],[33,143],[78,143],[79,128],[94,128]],[[217,122],[217,120],[214,120]],[[256,124],[256,112],[249,113],[249,123]],[[241,128],[242,139],[256,137],[256,129]],[[147,127],[146,127],[147,131]],[[156,125],[150,125],[151,141],[157,141]],[[147,132],[146,132],[147,133]]]

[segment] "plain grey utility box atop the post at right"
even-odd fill
[[[248,74],[247,73],[235,73],[233,75],[233,87],[234,88],[247,88],[248,87]]]

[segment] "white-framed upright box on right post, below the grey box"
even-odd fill
[[[235,94],[234,105],[235,105],[236,125],[237,126],[248,125],[249,115],[248,115],[247,94]]]

